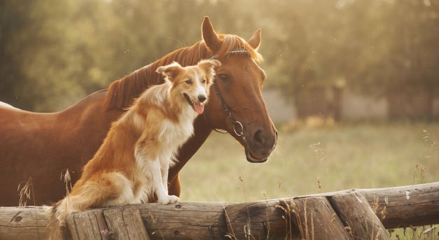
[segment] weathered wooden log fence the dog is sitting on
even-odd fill
[[[0,207],[0,239],[44,239],[39,206]],[[178,202],[93,209],[68,218],[71,239],[389,239],[439,223],[439,183],[258,202]]]

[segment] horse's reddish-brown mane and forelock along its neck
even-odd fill
[[[245,49],[246,54],[256,62],[263,60],[259,52],[254,50],[249,43],[239,36],[220,34],[218,37],[223,44],[216,52],[211,52],[204,41],[198,41],[190,47],[175,50],[165,57],[111,83],[104,101],[104,108],[107,110],[115,108],[123,109],[130,106],[134,98],[139,97],[139,94],[146,90],[146,88],[151,85],[163,83],[164,80],[162,76],[155,72],[155,70],[158,69],[159,66],[164,66],[172,62],[178,62],[181,66],[195,65],[201,59],[207,59],[212,56],[216,56],[218,59],[228,57],[230,51],[235,49]]]

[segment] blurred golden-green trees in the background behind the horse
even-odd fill
[[[0,101],[59,111],[168,52],[263,29],[267,85],[369,94],[439,88],[438,0],[46,0],[0,2]]]

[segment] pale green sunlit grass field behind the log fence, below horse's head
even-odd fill
[[[212,133],[181,171],[180,199],[251,202],[439,181],[439,147],[428,149],[439,123],[278,128],[278,153],[263,164],[247,162],[230,135]]]

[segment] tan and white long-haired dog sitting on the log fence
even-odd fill
[[[193,122],[204,111],[215,66],[205,59],[194,66],[160,66],[165,83],[148,88],[111,125],[104,143],[85,165],[67,197],[46,207],[48,239],[62,239],[65,220],[87,209],[151,202],[177,202],[168,195],[169,166],[179,147],[193,135]]]

